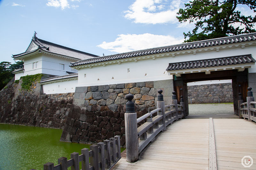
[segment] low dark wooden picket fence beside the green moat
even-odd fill
[[[48,162],[44,164],[44,170],[67,170],[68,167],[71,167],[71,170],[79,170],[79,162],[82,163],[82,170],[111,169],[121,158],[120,136],[111,137],[109,140],[105,140],[104,143],[93,144],[90,146],[90,151],[84,148],[81,152],[81,155],[77,152],[71,153],[71,159],[69,160],[65,157],[59,158],[56,166]]]

